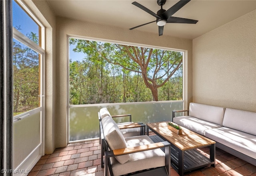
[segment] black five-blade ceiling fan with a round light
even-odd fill
[[[156,20],[153,21],[153,22],[156,22],[156,24],[158,25],[158,33],[159,33],[159,36],[160,36],[160,35],[163,35],[164,25],[166,23],[196,24],[198,22],[198,20],[191,20],[191,19],[187,19],[187,18],[179,18],[179,17],[172,16],[178,10],[180,10],[183,6],[185,6],[188,2],[190,2],[190,0],[180,0],[174,6],[169,8],[168,10],[164,10],[163,5],[166,3],[166,0],[157,0],[157,4],[158,4],[158,6],[161,6],[161,9],[158,10],[158,12],[156,14],[154,12],[152,12],[151,10],[149,10],[148,8],[142,6],[138,2],[132,2],[132,4],[137,6],[138,8],[141,8],[145,12],[148,12],[150,15],[156,17]],[[132,27],[132,28],[130,28],[130,30],[135,29],[137,27],[141,27],[143,25],[153,23],[153,22],[149,22],[149,23],[145,23],[145,24],[142,24],[142,25],[138,25],[136,27]]]

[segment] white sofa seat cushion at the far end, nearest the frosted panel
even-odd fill
[[[200,135],[204,135],[204,131],[206,129],[222,127],[222,125],[211,123],[209,121],[205,121],[191,116],[174,117],[173,122],[182,127],[190,129],[191,131],[194,131]]]

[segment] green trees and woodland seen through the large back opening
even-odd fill
[[[84,53],[82,61],[70,59],[70,104],[153,101],[152,82],[157,100],[182,100],[180,52],[80,39],[70,45]]]

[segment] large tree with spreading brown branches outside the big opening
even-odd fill
[[[102,66],[108,62],[140,74],[152,93],[153,101],[158,101],[158,88],[164,86],[182,68],[181,52],[81,39],[70,39],[70,44],[76,45],[74,51],[90,55],[90,61],[97,61]],[[124,96],[127,96],[127,92],[124,92]],[[126,101],[124,96],[123,100]]]

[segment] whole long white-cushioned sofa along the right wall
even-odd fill
[[[256,166],[256,112],[190,103],[173,122],[216,141],[216,147]]]

